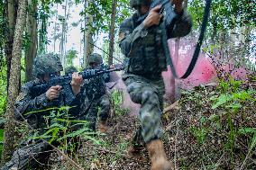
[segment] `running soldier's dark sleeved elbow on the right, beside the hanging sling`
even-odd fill
[[[169,38],[184,37],[192,29],[192,17],[184,10],[178,13],[178,17],[174,24],[173,30],[168,32]]]

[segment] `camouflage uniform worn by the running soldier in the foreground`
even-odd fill
[[[142,0],[132,0],[132,7],[142,4]],[[145,0],[145,4],[148,1]],[[160,139],[162,128],[160,114],[163,109],[164,83],[161,72],[167,70],[167,58],[164,55],[160,26],[145,29],[143,23],[136,24],[139,13],[125,19],[120,26],[119,46],[125,55],[124,84],[134,103],[141,104],[139,120],[141,127],[136,133],[137,143],[148,143]],[[184,11],[177,16],[169,38],[182,37],[191,30],[190,15]],[[167,42],[166,42],[167,43]]]

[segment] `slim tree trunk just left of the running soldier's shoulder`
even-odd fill
[[[108,66],[113,65],[113,53],[114,53],[114,22],[116,14],[116,0],[112,0],[112,13],[111,13],[111,23],[109,31],[109,56],[108,56]]]

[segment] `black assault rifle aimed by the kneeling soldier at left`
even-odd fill
[[[95,76],[101,76],[106,73],[111,73],[114,71],[121,71],[123,67],[117,67],[113,69],[86,69],[82,72],[79,72],[79,75],[83,77],[83,79],[89,79]],[[65,88],[65,85],[69,85],[72,80],[72,74],[65,75],[65,76],[54,76],[50,75],[50,81],[45,84],[34,85],[32,86],[32,93],[43,94],[45,93],[51,86],[61,85]]]

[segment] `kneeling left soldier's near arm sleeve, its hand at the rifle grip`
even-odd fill
[[[22,116],[24,118],[27,118],[27,112],[40,111],[50,104],[48,103],[46,94],[41,94],[39,96],[32,98],[30,93],[31,86],[32,84],[30,82],[23,85],[21,93],[18,95],[16,99],[16,111],[14,112],[14,115],[15,118],[18,120],[22,120]]]

